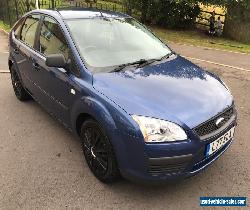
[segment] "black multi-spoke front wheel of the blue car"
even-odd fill
[[[120,177],[113,147],[94,120],[86,120],[81,127],[82,150],[85,160],[97,179],[112,183]]]

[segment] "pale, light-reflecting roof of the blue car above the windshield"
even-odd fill
[[[91,9],[91,8],[58,8],[54,10],[33,10],[30,13],[43,13],[52,16],[60,15],[62,19],[84,19],[84,18],[95,18],[95,17],[105,17],[105,18],[128,18],[130,16],[114,11]]]

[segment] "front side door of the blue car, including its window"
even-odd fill
[[[76,91],[74,89],[74,78],[77,77],[78,68],[75,65],[64,33],[54,18],[43,17],[38,37],[40,56],[36,58],[39,75],[37,82],[46,95],[46,100],[43,100],[43,102],[52,114],[64,124],[69,125],[70,108],[74,102],[74,93],[76,93],[74,92]],[[62,54],[66,60],[71,60],[71,64],[65,69],[48,67],[45,64],[45,58],[51,54]]]

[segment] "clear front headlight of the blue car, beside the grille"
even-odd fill
[[[132,115],[139,125],[146,143],[173,142],[187,139],[185,131],[177,124],[150,117]]]

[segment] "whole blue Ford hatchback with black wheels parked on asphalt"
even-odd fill
[[[78,136],[102,182],[189,177],[233,141],[236,110],[223,81],[130,16],[35,10],[9,43],[17,98],[33,98]]]

